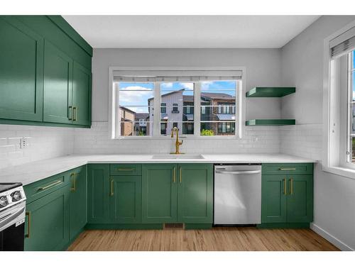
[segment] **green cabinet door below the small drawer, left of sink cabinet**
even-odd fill
[[[141,176],[110,177],[110,221],[141,223]]]

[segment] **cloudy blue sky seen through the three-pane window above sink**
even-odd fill
[[[193,83],[167,82],[160,84],[161,94],[185,89],[183,95],[193,95]],[[148,113],[148,99],[153,97],[153,83],[120,82],[119,105],[135,111]],[[201,92],[219,92],[235,96],[235,82],[202,82]]]

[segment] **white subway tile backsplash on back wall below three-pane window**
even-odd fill
[[[241,139],[182,139],[182,153],[279,153],[278,127],[246,127]],[[74,153],[170,153],[175,149],[174,140],[121,139],[112,140],[109,123],[94,122],[92,128],[76,128]]]

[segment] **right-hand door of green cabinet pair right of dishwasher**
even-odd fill
[[[313,176],[288,176],[287,216],[289,223],[313,221]]]

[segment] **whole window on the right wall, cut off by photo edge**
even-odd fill
[[[355,21],[324,40],[323,170],[355,179]]]

